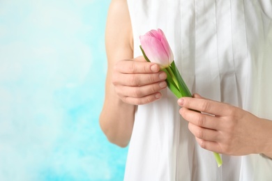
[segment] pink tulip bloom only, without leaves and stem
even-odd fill
[[[169,67],[174,61],[172,49],[161,29],[151,30],[144,36],[139,36],[139,40],[147,58],[151,62],[158,63],[161,69]]]

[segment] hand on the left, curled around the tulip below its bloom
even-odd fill
[[[139,56],[114,65],[112,84],[123,102],[139,105],[160,99],[160,91],[167,87],[166,78],[159,65]]]

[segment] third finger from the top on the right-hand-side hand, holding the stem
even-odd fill
[[[192,123],[188,124],[188,129],[198,139],[203,139],[205,141],[218,141],[218,132],[214,129],[206,129]]]

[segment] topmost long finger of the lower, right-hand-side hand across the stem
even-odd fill
[[[210,113],[216,116],[228,115],[229,111],[232,111],[232,107],[229,104],[202,98],[183,97],[178,100],[178,104],[181,107]]]

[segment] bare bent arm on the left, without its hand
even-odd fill
[[[133,58],[133,36],[125,0],[113,0],[109,6],[105,42],[108,67],[100,127],[110,142],[124,147],[132,133],[135,105],[123,102],[115,93],[112,74],[117,61]]]

